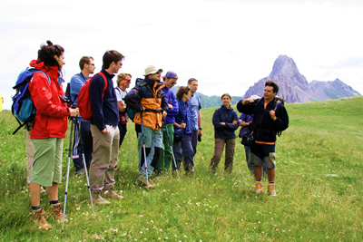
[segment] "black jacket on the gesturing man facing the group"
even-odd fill
[[[254,102],[242,104],[242,100],[237,103],[237,110],[246,114],[254,114],[250,123],[250,130],[253,131],[255,140],[263,142],[275,142],[276,134],[285,131],[289,127],[289,115],[284,105],[277,100],[269,102],[264,107],[265,98],[256,99]],[[276,121],[272,121],[270,111],[276,111]],[[255,128],[256,127],[256,128]]]

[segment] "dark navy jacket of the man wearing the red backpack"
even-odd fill
[[[107,78],[107,89],[104,91],[104,80],[100,74],[95,74],[90,83],[90,102],[93,112],[91,123],[96,125],[100,131],[106,125],[117,126],[119,122],[119,108],[117,97],[113,88],[113,74],[109,74],[104,69],[101,71]]]

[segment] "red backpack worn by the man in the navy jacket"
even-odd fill
[[[104,96],[104,91],[107,89],[108,82],[103,73],[100,72],[97,74],[100,74],[103,76],[103,80],[104,80],[103,96]],[[82,119],[85,121],[91,121],[92,116],[93,116],[92,109],[91,109],[91,102],[90,102],[90,83],[92,81],[92,78],[93,77],[91,77],[84,83],[83,87],[81,88],[81,90],[78,94],[78,100],[77,100],[77,106],[79,108],[80,115],[81,115]]]

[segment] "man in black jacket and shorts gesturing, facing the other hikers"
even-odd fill
[[[279,86],[272,81],[265,83],[263,98],[240,100],[237,109],[246,114],[254,114],[250,129],[254,144],[250,146],[250,163],[254,164],[256,179],[255,192],[262,193],[262,164],[265,163],[269,179],[269,195],[276,197],[275,191],[275,141],[279,131],[289,127],[289,116],[281,102],[275,100]]]

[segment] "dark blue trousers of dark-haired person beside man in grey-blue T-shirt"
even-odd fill
[[[174,163],[172,163],[172,169],[180,169],[182,156],[184,157],[184,169],[185,171],[192,170],[194,167],[194,155],[193,149],[191,147],[191,134],[185,134],[184,139],[182,141],[175,142],[172,146],[172,150],[174,151],[174,157],[176,162],[176,168]]]

